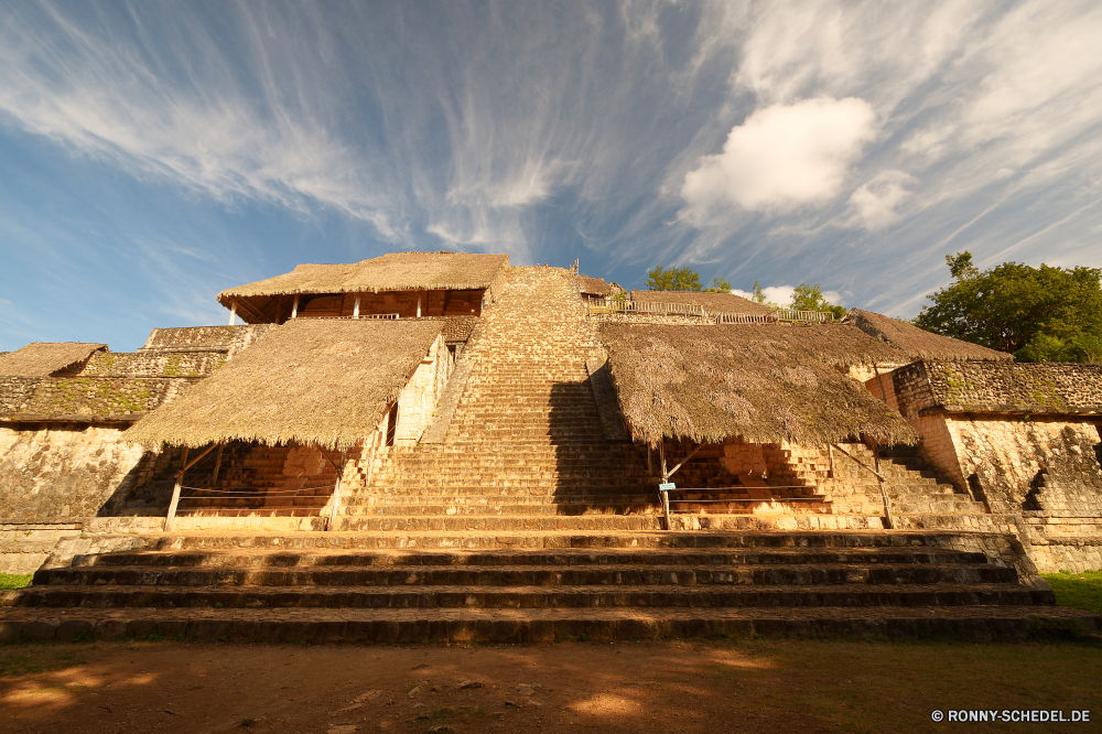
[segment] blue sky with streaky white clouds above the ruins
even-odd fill
[[[300,262],[507,252],[912,316],[1102,267],[1098,2],[0,2],[0,350]]]

